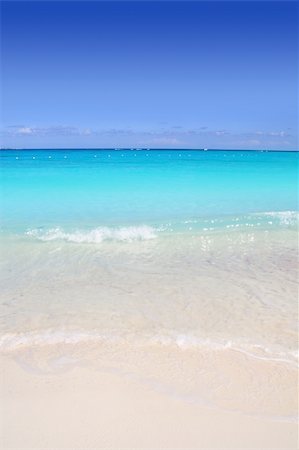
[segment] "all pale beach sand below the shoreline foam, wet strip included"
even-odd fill
[[[138,370],[138,364],[135,369],[131,365],[131,370],[128,365],[126,370],[121,369],[121,364],[116,368],[112,359],[119,359],[118,352],[110,364],[104,355],[106,365],[100,361],[92,365],[67,358],[65,349],[64,356],[58,356],[55,350],[56,359],[52,350],[40,349],[37,354],[32,350],[1,356],[2,449],[297,448],[297,424],[292,416],[297,405],[296,371],[284,373],[280,363],[269,366],[269,362],[252,362],[233,352],[230,363],[223,367],[229,383],[216,386],[211,372],[210,389],[217,401],[208,404],[194,394],[191,374],[199,384],[204,377],[196,372],[200,357],[194,358],[188,351],[181,358],[184,390],[176,379],[180,368],[173,366],[172,370],[167,362],[169,349],[159,349],[155,355],[148,350],[148,360],[143,364],[148,377]],[[178,361],[181,351],[173,352],[173,361]],[[42,357],[45,353],[47,358]],[[136,363],[141,356],[133,353]],[[132,355],[125,356],[123,359],[133,364]],[[157,358],[161,364],[154,370],[165,372],[164,384],[163,377],[158,383],[158,378],[149,374],[148,367],[158,364]],[[215,358],[217,355],[211,356],[210,361]],[[218,358],[219,367],[228,361],[227,355],[223,358]],[[248,377],[246,364],[257,364]],[[244,370],[237,369],[240,365]],[[259,373],[263,377],[253,380],[255,372],[257,378]],[[190,395],[190,386],[194,395]],[[259,390],[267,387],[269,392],[259,398]],[[220,392],[218,396],[216,391]]]

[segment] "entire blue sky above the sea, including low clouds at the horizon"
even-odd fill
[[[2,146],[297,149],[297,14],[2,2]]]

